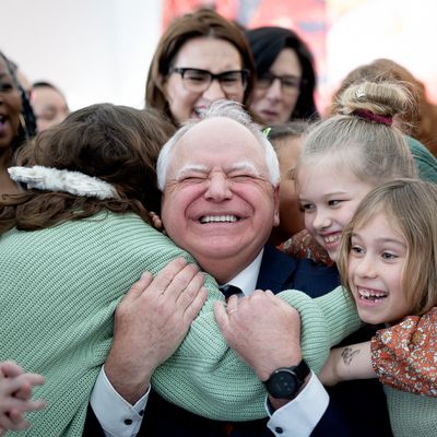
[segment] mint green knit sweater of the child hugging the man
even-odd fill
[[[179,256],[193,261],[134,214],[101,213],[0,237],[0,359],[15,359],[46,377],[35,389],[46,410],[28,413],[32,427],[11,435],[82,435],[88,398],[110,347],[114,309],[141,272],[156,273]],[[205,285],[205,305],[177,353],[156,370],[153,386],[206,417],[262,417],[263,386],[226,346],[212,309],[223,296],[211,276]],[[340,287],[318,299],[296,291],[281,295],[305,316],[304,356],[317,371],[329,347],[358,327],[353,304]]]

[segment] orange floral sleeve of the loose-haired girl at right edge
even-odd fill
[[[437,397],[437,307],[409,316],[371,339],[371,364],[380,381],[402,391]]]

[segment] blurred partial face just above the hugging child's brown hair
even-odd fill
[[[69,114],[64,95],[49,82],[35,82],[31,88],[31,104],[38,132],[60,123]]]

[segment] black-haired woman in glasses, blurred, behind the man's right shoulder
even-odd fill
[[[246,31],[257,69],[250,109],[265,125],[318,119],[312,55],[296,33],[283,27]]]

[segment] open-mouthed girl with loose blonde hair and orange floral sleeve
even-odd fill
[[[437,186],[399,179],[373,190],[345,227],[338,265],[368,323],[388,323],[371,341],[371,353],[392,364],[397,389],[385,386],[394,436],[435,436],[437,400],[401,391],[437,395],[435,327],[437,324]],[[410,317],[408,317],[410,316]],[[409,332],[414,327],[414,339]],[[405,362],[392,359],[404,356]],[[321,373],[326,383],[376,377],[370,344],[339,347]],[[374,365],[374,367],[373,367]],[[427,374],[423,383],[421,375]],[[417,378],[417,375],[420,376]]]

